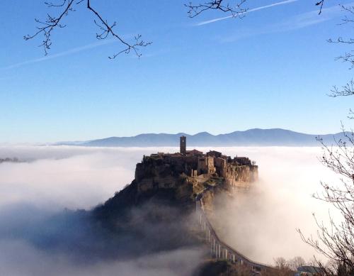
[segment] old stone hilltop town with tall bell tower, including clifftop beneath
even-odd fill
[[[192,184],[194,194],[208,186],[222,184],[225,189],[246,189],[258,180],[258,166],[246,157],[223,155],[215,150],[202,153],[187,150],[186,138],[180,138],[179,153],[154,153],[144,156],[135,170],[138,191],[168,189]]]

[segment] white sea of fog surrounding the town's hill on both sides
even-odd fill
[[[204,152],[211,148],[198,148]],[[312,214],[328,219],[329,206],[313,199],[320,181],[338,182],[319,162],[320,148],[213,148],[231,156],[248,156],[259,166],[259,181],[248,194],[224,202],[222,238],[249,258],[273,263],[297,255],[311,260],[312,248],[296,229],[316,236]],[[74,146],[0,146],[0,158],[25,162],[0,164],[0,275],[188,275],[201,260],[194,248],[146,258],[75,263],[49,253],[24,237],[12,237],[4,226],[56,214],[63,209],[91,209],[134,179],[143,155],[178,148],[84,148]],[[7,228],[6,228],[7,229]],[[38,237],[40,238],[40,237]]]

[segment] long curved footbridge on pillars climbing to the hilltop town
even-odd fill
[[[202,204],[202,197],[199,197],[195,201],[195,204],[196,211],[199,215],[199,223],[205,233],[207,242],[210,243],[210,253],[213,258],[216,258],[217,260],[229,260],[232,263],[239,263],[241,265],[248,265],[253,272],[259,272],[261,270],[272,268],[268,265],[254,262],[242,253],[239,253],[239,251],[227,245],[227,243],[224,243],[224,241],[217,236],[212,224],[207,219],[207,215],[205,214],[204,206]]]

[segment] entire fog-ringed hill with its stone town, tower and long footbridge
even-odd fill
[[[105,204],[96,207],[94,216],[105,227],[117,231],[118,221],[132,208],[139,207],[144,209],[144,214],[146,210],[144,216],[149,218],[149,223],[166,223],[163,231],[166,241],[161,241],[159,231],[159,242],[156,243],[159,246],[200,244],[200,237],[205,237],[202,242],[208,244],[206,253],[209,251],[207,255],[212,258],[246,265],[252,271],[265,269],[264,265],[253,262],[224,243],[212,225],[217,194],[232,195],[249,189],[251,183],[258,180],[258,166],[246,157],[232,158],[215,150],[202,153],[187,150],[186,146],[186,137],[181,136],[179,153],[144,156],[142,162],[137,163],[135,180]],[[194,214],[192,221],[190,214]],[[178,226],[174,224],[176,218]],[[125,225],[130,225],[130,231],[139,229],[142,220],[139,217],[132,224],[123,223],[120,228],[127,231]]]

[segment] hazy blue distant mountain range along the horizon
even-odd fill
[[[189,135],[186,133],[146,133],[132,137],[110,137],[82,142],[62,142],[56,145],[81,145],[92,147],[149,147],[179,146],[179,137],[187,137],[187,146],[319,146],[316,137],[322,138],[326,144],[333,144],[333,138],[343,138],[343,133],[314,135],[288,131],[282,128],[234,131],[227,134],[212,135],[207,132]]]

